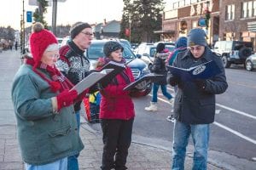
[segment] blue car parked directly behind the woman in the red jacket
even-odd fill
[[[95,69],[97,60],[100,57],[104,57],[103,46],[105,42],[108,42],[108,40],[92,40],[90,47],[84,52],[85,56],[90,59],[90,69]],[[135,54],[133,54],[131,48],[128,48],[124,44],[122,45],[124,47],[123,57],[126,59],[128,66],[131,67],[131,71],[135,80],[148,74],[148,65],[143,62],[142,59],[139,59],[139,55],[137,57]],[[152,83],[148,84],[146,95],[150,93],[151,87]]]

